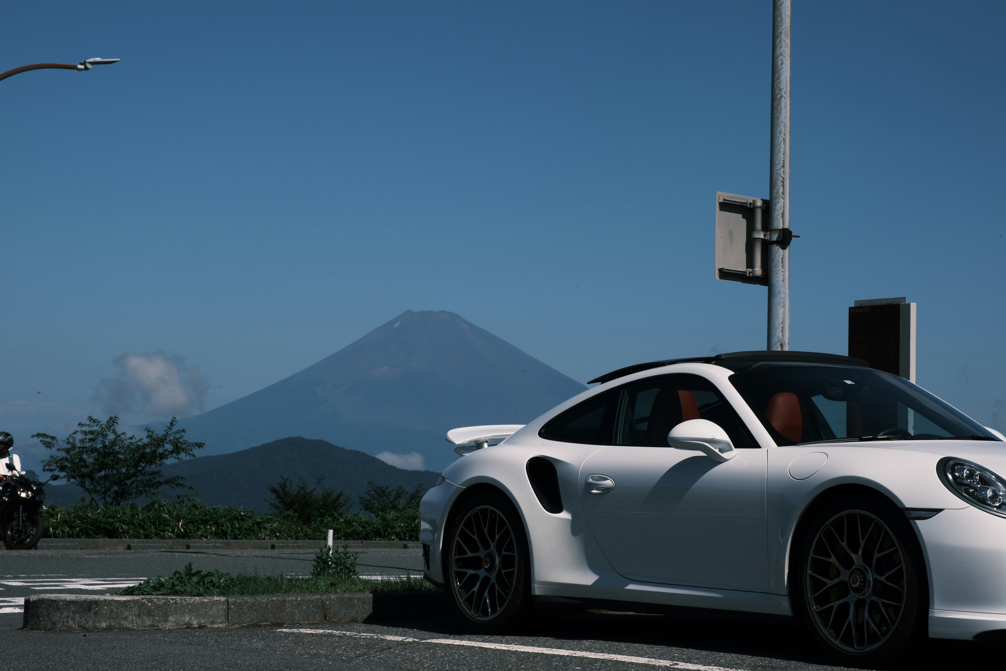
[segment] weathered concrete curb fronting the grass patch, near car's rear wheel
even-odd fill
[[[24,629],[35,631],[202,629],[317,622],[438,620],[443,592],[264,595],[259,597],[25,597]]]

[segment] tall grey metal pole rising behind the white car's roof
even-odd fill
[[[769,238],[790,227],[790,17],[791,0],[772,7],[772,141]],[[769,246],[768,349],[790,349],[790,250]]]

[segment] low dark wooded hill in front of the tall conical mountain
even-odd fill
[[[318,476],[324,474],[323,487],[341,489],[354,498],[366,491],[367,482],[371,481],[412,489],[416,485],[433,487],[440,477],[432,471],[405,471],[362,452],[306,438],[285,438],[227,455],[196,457],[166,466],[162,471],[166,476],[183,476],[205,505],[263,512],[269,511],[263,500],[270,497],[266,486],[283,476],[293,478],[295,483],[304,478],[313,486]],[[77,497],[83,494],[76,485],[50,485],[46,490],[46,502],[59,505],[77,503]]]

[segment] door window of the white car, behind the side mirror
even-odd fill
[[[667,434],[688,420],[718,425],[735,448],[758,448],[736,410],[698,375],[651,377],[625,387],[618,444],[667,447]]]

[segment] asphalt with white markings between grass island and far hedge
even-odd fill
[[[420,549],[359,552],[361,575],[423,572]],[[0,615],[20,614],[24,598],[45,594],[113,594],[153,575],[169,575],[189,561],[196,569],[231,573],[306,575],[316,550],[0,550]]]

